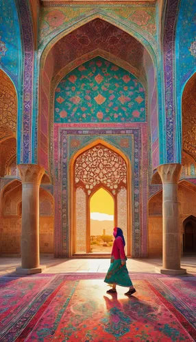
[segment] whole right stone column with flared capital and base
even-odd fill
[[[181,228],[179,220],[177,183],[180,179],[180,164],[164,164],[158,167],[162,179],[162,268],[163,274],[184,274],[180,268]]]

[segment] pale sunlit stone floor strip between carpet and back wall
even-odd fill
[[[108,271],[110,259],[55,259],[51,256],[40,258],[41,265],[46,265],[45,273],[79,273],[95,272],[105,273]],[[20,258],[1,257],[0,276],[13,274],[16,267],[21,265]],[[162,260],[157,259],[128,259],[127,268],[129,272],[155,273],[155,267],[161,266]],[[196,256],[182,257],[182,268],[186,268],[188,274],[196,274]]]

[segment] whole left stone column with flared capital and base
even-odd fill
[[[21,267],[17,274],[40,273],[39,189],[44,168],[34,164],[18,166],[22,181]]]

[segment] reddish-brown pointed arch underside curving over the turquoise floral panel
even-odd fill
[[[109,21],[109,19],[108,19]],[[103,18],[92,18],[88,23],[75,27],[73,31],[64,31],[56,37],[53,44],[48,44],[40,58],[40,109],[39,109],[39,156],[38,163],[49,170],[52,158],[52,144],[49,148],[49,137],[53,138],[53,98],[57,80],[62,79],[69,71],[84,62],[96,57],[96,53],[114,64],[131,70],[148,84],[147,92],[151,134],[154,134],[153,155],[156,163],[159,160],[156,71],[153,57],[143,43],[123,29],[105,21]],[[106,35],[108,35],[106,37]],[[104,40],[103,40],[104,36]],[[85,37],[83,39],[82,37]],[[77,41],[77,42],[76,42]],[[143,40],[141,40],[143,41]],[[124,47],[126,46],[126,49]],[[150,49],[149,49],[150,50]],[[64,53],[66,51],[66,53]],[[96,51],[96,52],[95,52]],[[92,55],[93,54],[93,55]],[[87,57],[88,56],[88,57]],[[107,57],[108,56],[108,57]],[[49,87],[49,84],[51,86]]]

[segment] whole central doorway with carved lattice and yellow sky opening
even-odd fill
[[[109,255],[114,226],[123,229],[125,252],[130,255],[131,168],[127,157],[98,139],[75,153],[70,171],[70,257]]]

